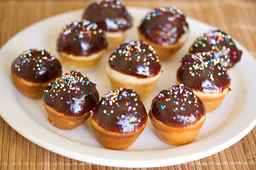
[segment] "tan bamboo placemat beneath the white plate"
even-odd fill
[[[84,8],[91,1],[0,0],[0,46],[29,25],[65,11]],[[127,6],[145,8],[171,4],[186,16],[228,32],[256,56],[256,1],[151,1],[127,0]],[[1,56],[4,57],[4,56]],[[256,169],[256,128],[229,148],[184,164],[141,169]],[[0,117],[0,169],[126,169],[98,166],[45,150],[14,131]],[[131,169],[131,168],[127,168]]]

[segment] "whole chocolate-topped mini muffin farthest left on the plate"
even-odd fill
[[[30,49],[12,62],[12,77],[21,94],[40,98],[49,83],[61,76],[59,60],[45,50]]]

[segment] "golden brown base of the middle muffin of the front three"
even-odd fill
[[[143,124],[135,132],[120,133],[103,129],[97,122],[95,122],[95,120],[93,120],[92,116],[90,116],[90,122],[95,138],[99,141],[100,145],[112,150],[124,150],[131,146],[138,139],[147,125],[147,123]]]

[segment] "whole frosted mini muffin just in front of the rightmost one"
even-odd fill
[[[211,52],[185,55],[176,81],[193,89],[207,112],[216,110],[230,90],[228,70]]]

